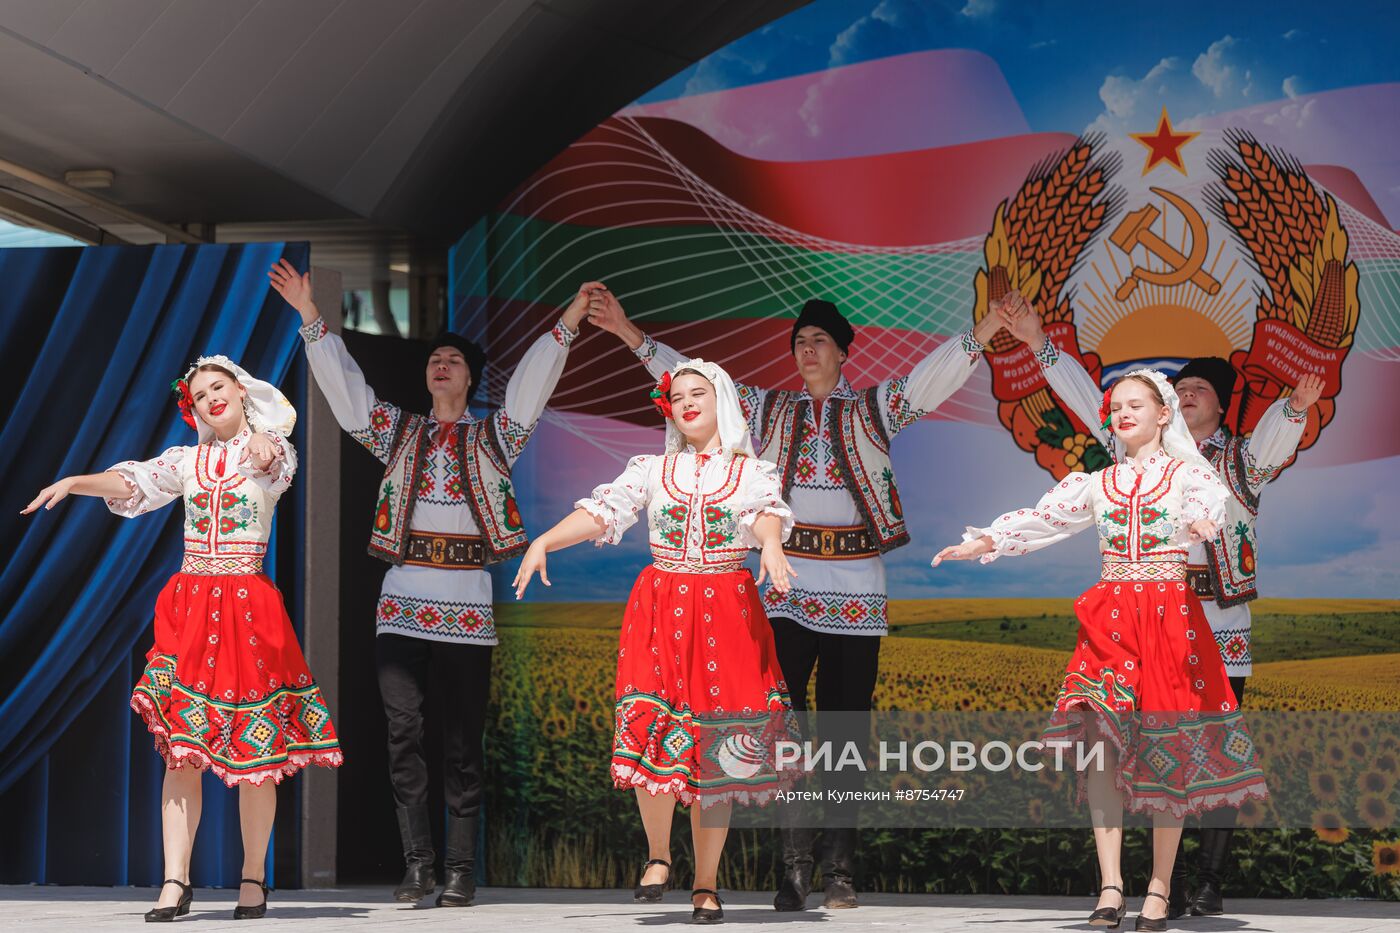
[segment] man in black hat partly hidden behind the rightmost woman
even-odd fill
[[[1007,329],[1035,352],[1040,371],[1056,395],[1081,422],[1093,429],[1095,437],[1114,459],[1121,459],[1121,451],[1110,443],[1107,431],[1099,424],[1103,392],[1093,377],[1072,354],[1061,353],[1046,338],[1040,315],[1021,294],[1008,294],[1000,312]],[[1176,373],[1175,385],[1191,437],[1229,490],[1219,534],[1214,541],[1191,546],[1186,574],[1205,608],[1235,699],[1243,703],[1245,678],[1253,664],[1249,651],[1249,604],[1259,595],[1254,584],[1259,560],[1254,523],[1260,495],[1298,451],[1308,426],[1308,409],[1322,396],[1323,380],[1319,375],[1302,377],[1292,395],[1264,409],[1249,437],[1239,437],[1222,423],[1235,394],[1235,367],[1228,360],[1201,356],[1189,360]],[[1225,912],[1222,885],[1236,814],[1238,810],[1226,807],[1203,820],[1193,897],[1187,895],[1186,859],[1183,853],[1177,853],[1170,918],[1187,911],[1194,916]]]

